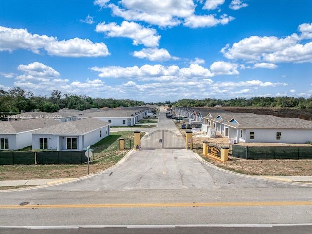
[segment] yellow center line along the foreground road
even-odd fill
[[[311,206],[312,201],[293,202],[230,202],[230,203],[137,203],[137,204],[51,204],[51,205],[0,205],[0,209],[49,208],[137,208],[137,207],[218,207],[218,206]]]

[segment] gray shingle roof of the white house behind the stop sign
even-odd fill
[[[57,126],[42,128],[33,133],[52,133],[52,134],[85,134],[90,131],[108,126],[110,123],[96,118],[84,118],[60,123]]]

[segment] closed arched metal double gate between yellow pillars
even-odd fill
[[[141,138],[141,149],[185,148],[185,136],[169,130],[157,130]]]

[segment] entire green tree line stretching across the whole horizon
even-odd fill
[[[312,109],[312,96],[310,98],[294,97],[252,97],[249,99],[235,98],[229,100],[206,98],[206,99],[180,99],[176,102],[166,101],[170,106],[183,107],[213,107],[234,106],[234,107],[275,107],[275,108],[298,108]],[[70,93],[62,94],[59,90],[53,90],[50,97],[34,96],[31,91],[25,91],[20,87],[12,87],[8,91],[0,89],[0,112],[20,113],[21,111],[43,111],[56,112],[59,109],[85,110],[90,108],[116,108],[128,106],[140,106],[144,104],[164,105],[162,102],[145,103],[130,99],[114,98],[91,98],[85,95]]]

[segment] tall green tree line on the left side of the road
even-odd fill
[[[20,87],[12,87],[8,91],[0,89],[0,112],[20,113],[29,111],[56,112],[59,109],[85,110],[90,108],[116,108],[128,106],[140,106],[145,103],[130,99],[91,98],[85,95],[62,94],[53,90],[50,97],[34,96],[31,91],[25,91]]]

